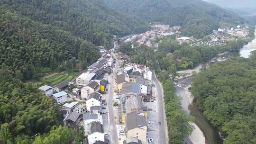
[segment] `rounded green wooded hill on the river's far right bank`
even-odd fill
[[[256,144],[256,52],[202,70],[191,91],[204,116],[227,135],[224,144]]]

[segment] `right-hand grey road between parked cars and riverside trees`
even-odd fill
[[[158,125],[158,144],[167,144],[167,124],[165,121],[165,107],[163,101],[163,88],[160,82],[155,76],[155,72],[152,74],[152,81],[156,88],[156,99],[157,99],[157,109],[158,109],[158,121],[161,125]],[[158,122],[157,122],[158,123]]]

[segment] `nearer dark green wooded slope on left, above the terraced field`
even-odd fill
[[[0,65],[5,63],[17,75],[21,73],[21,79],[37,79],[44,72],[42,68],[58,69],[60,64],[77,58],[79,52],[89,55],[86,60],[81,59],[85,64],[100,56],[98,48],[90,42],[23,18],[4,6],[0,9],[0,27]]]

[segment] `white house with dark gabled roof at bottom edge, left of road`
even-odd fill
[[[99,122],[91,123],[91,134],[88,135],[88,144],[94,144],[96,141],[105,141],[103,125]]]

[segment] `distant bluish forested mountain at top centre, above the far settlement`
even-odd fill
[[[105,0],[111,8],[149,23],[183,27],[185,36],[202,37],[221,25],[235,25],[242,18],[202,0]]]

